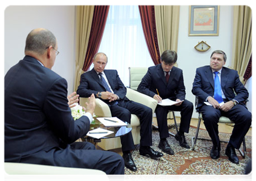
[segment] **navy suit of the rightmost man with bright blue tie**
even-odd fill
[[[211,136],[212,143],[217,147],[220,146],[217,123],[220,116],[226,116],[235,122],[229,143],[235,148],[240,148],[241,142],[248,132],[252,121],[252,115],[244,103],[249,94],[245,86],[241,83],[237,71],[226,67],[222,68],[221,86],[223,94],[226,97],[224,100],[225,103],[231,100],[237,100],[239,103],[228,112],[214,109],[214,107],[206,106],[203,103],[207,97],[214,97],[214,77],[210,66],[197,68],[192,93],[199,97],[197,109],[202,112],[204,124],[209,136]]]

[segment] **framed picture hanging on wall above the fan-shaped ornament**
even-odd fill
[[[220,5],[189,5],[188,36],[218,36]]]

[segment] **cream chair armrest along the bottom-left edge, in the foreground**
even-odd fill
[[[29,180],[73,180],[102,181],[109,180],[105,172],[85,168],[55,167],[48,165],[3,163],[3,178],[6,181]]]

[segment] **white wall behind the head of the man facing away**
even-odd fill
[[[47,28],[56,36],[59,55],[53,71],[68,81],[73,91],[75,5],[3,5],[3,77],[24,57],[25,39],[34,28]]]

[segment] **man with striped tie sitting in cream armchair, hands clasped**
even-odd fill
[[[110,106],[111,115],[122,121],[131,122],[131,113],[140,118],[140,154],[156,158],[163,156],[154,151],[152,145],[152,109],[125,97],[126,87],[123,85],[116,70],[105,70],[107,56],[99,52],[93,58],[94,68],[81,75],[77,94],[80,97],[89,97],[94,94],[97,98]],[[125,167],[136,171],[130,151],[134,149],[131,132],[121,137],[123,159]]]

